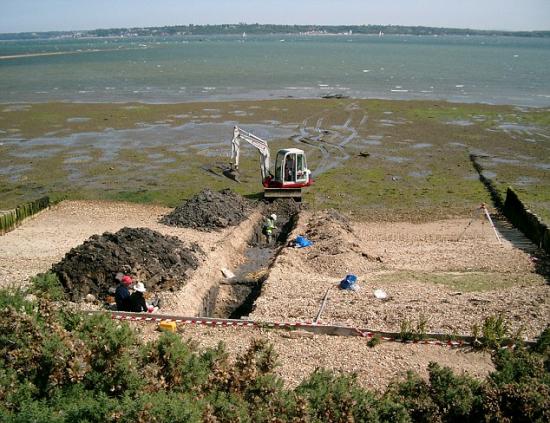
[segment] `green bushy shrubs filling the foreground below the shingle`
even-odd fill
[[[262,340],[229,360],[174,333],[143,343],[109,316],[68,312],[55,281],[0,291],[0,420],[4,422],[377,422],[550,419],[550,329],[532,348],[497,349],[486,380],[436,363],[385,392],[318,369],[295,389]],[[501,328],[501,325],[498,325]],[[494,328],[493,328],[494,329]],[[500,331],[485,330],[496,335]],[[499,343],[494,344],[500,345]],[[375,347],[375,343],[371,345]]]

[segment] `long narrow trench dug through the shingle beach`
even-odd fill
[[[268,211],[267,214],[270,214]],[[233,269],[234,276],[215,283],[203,298],[202,317],[240,319],[248,316],[260,296],[271,266],[287,244],[299,214],[278,215],[274,240],[267,244],[262,234],[263,221],[254,228],[247,241],[243,262]]]

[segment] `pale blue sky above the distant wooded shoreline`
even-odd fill
[[[187,24],[550,30],[550,0],[0,0],[0,32]]]

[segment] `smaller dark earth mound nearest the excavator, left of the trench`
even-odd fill
[[[238,225],[250,211],[250,202],[230,189],[219,192],[205,189],[164,216],[161,222],[169,226],[211,231]]]

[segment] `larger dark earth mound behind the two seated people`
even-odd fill
[[[87,294],[108,295],[118,272],[143,282],[148,290],[164,291],[185,284],[199,265],[200,247],[185,247],[174,236],[147,228],[122,228],[116,233],[94,235],[71,249],[52,266],[69,297],[76,301]]]

